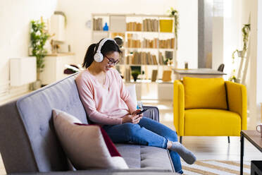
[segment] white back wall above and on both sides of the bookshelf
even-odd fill
[[[190,6],[188,5],[190,4]],[[197,1],[195,0],[58,0],[57,11],[63,11],[68,18],[67,43],[75,52],[76,62],[82,64],[85,52],[91,44],[92,30],[85,27],[92,20],[92,13],[142,13],[167,14],[170,7],[180,12],[177,59],[180,66],[189,62],[190,68],[197,67]]]

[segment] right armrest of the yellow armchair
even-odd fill
[[[247,129],[247,89],[239,83],[225,81],[227,104],[230,111],[241,116],[242,130]]]

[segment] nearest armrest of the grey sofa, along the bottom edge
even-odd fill
[[[175,174],[166,169],[99,169],[99,170],[77,170],[77,171],[51,171],[51,172],[34,172],[18,173],[13,175],[171,175]]]

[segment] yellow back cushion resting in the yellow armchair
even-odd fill
[[[183,78],[185,109],[227,109],[223,78]]]

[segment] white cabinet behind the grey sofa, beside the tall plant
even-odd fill
[[[57,80],[61,80],[68,76],[63,73],[66,69],[66,64],[73,64],[73,54],[51,54],[50,56],[44,57],[44,70],[40,73],[40,80],[42,85],[48,85],[54,83]]]

